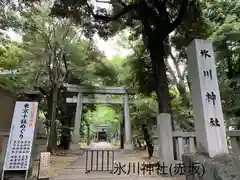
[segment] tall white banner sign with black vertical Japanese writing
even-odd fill
[[[37,114],[38,102],[16,102],[4,170],[28,170]]]

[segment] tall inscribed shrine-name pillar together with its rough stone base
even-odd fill
[[[197,153],[183,154],[182,159],[187,167],[199,163],[201,170],[186,174],[186,179],[240,179],[239,160],[228,152],[212,42],[195,39],[187,55]]]

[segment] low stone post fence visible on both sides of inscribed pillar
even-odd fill
[[[240,137],[240,130],[227,131],[227,142],[229,151],[240,156],[240,143],[237,141],[237,137]],[[176,139],[176,160],[181,161],[183,153],[196,152],[195,132],[174,131],[173,138]]]

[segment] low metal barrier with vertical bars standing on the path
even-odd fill
[[[114,150],[85,149],[85,157],[85,173],[90,171],[109,171],[112,173],[114,170]]]

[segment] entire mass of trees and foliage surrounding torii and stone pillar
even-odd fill
[[[41,92],[49,151],[57,145],[67,149],[71,140],[76,107],[66,103],[74,94],[63,83],[135,89],[130,106],[134,139],[144,139],[142,125],[153,136],[157,113],[169,113],[178,128],[194,131],[186,48],[195,38],[213,41],[226,123],[240,127],[238,0],[37,0],[0,5],[0,71],[15,72],[0,75],[0,86],[20,94]],[[20,42],[8,37],[9,29],[21,36]],[[109,60],[93,37],[108,39],[123,30],[129,35],[121,34],[120,44],[132,53]],[[85,138],[102,123],[111,125],[113,135],[121,134],[122,107],[88,105],[84,114]]]

